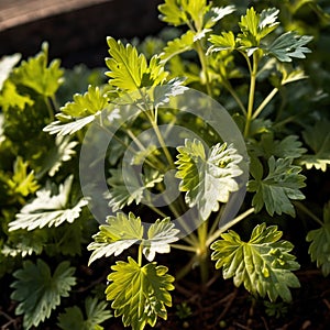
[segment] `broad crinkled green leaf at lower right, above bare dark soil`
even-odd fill
[[[299,287],[298,278],[292,273],[299,268],[295,256],[289,252],[293,244],[280,239],[276,226],[266,228],[265,223],[253,229],[249,242],[241,241],[238,233],[230,230],[221,234],[211,249],[216,268],[222,267],[223,278],[233,277],[235,286],[241,284],[253,295],[270,297],[275,301],[279,296],[292,300],[289,288]]]

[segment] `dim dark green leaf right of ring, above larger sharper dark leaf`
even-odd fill
[[[297,135],[288,135],[283,140],[274,140],[273,133],[263,134],[261,141],[252,145],[256,156],[268,160],[272,155],[278,158],[298,158],[307,150]]]

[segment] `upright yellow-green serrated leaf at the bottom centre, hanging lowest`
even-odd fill
[[[143,330],[146,323],[154,327],[157,317],[167,318],[166,306],[172,306],[168,290],[174,289],[174,277],[166,274],[167,267],[156,263],[141,267],[132,257],[128,261],[111,266],[107,299],[113,300],[114,316],[122,316],[124,327],[131,326],[133,330]]]

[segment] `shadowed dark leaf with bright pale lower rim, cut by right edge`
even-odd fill
[[[314,151],[314,154],[304,155],[300,164],[307,169],[315,167],[316,169],[327,170],[330,165],[330,122],[320,120],[314,127],[302,132],[302,138],[307,145]]]

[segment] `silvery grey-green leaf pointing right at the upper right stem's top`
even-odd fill
[[[292,62],[295,58],[305,58],[305,54],[311,51],[305,47],[312,40],[312,36],[298,36],[289,31],[279,35],[270,46],[263,47],[264,51],[275,56],[280,62]]]

